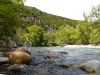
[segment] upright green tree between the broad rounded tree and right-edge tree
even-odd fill
[[[78,31],[78,44],[89,44],[91,26],[89,22],[81,22],[76,26]]]

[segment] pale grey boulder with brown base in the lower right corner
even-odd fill
[[[100,75],[100,61],[90,60],[78,66],[81,70],[89,74],[98,74]]]

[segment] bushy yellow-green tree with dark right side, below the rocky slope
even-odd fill
[[[27,27],[26,30],[18,29],[19,38],[25,42],[30,40],[32,42],[32,46],[42,46],[43,45],[43,33],[44,29],[37,25],[32,25]]]

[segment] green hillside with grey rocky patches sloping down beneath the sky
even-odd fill
[[[66,24],[74,26],[78,22],[77,20],[72,20],[69,18],[48,14],[34,7],[25,6],[22,10],[24,10],[24,13],[20,14],[19,16],[27,24],[40,25],[46,29],[57,29],[59,26]]]

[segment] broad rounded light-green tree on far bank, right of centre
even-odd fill
[[[55,34],[55,42],[58,45],[75,44],[77,41],[77,30],[68,25],[62,26]]]

